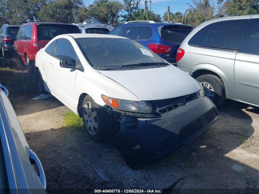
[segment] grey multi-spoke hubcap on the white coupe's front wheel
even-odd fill
[[[90,135],[96,135],[98,130],[97,113],[91,102],[84,104],[84,120],[87,131]]]

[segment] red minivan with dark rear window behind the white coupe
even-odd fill
[[[81,33],[76,25],[59,22],[32,21],[21,25],[14,46],[27,65],[28,72],[35,67],[36,53],[60,34]]]

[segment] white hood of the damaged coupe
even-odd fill
[[[98,72],[124,86],[141,101],[174,98],[200,90],[199,84],[192,77],[173,65],[137,70],[98,70]],[[111,97],[116,98],[116,96]]]

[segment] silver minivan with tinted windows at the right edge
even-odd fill
[[[177,67],[217,106],[229,98],[259,107],[259,15],[202,23],[178,49]]]

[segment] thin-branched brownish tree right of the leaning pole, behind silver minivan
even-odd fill
[[[189,4],[189,13],[184,20],[189,25],[196,27],[204,21],[215,18],[213,15],[215,7],[211,6],[210,0],[192,0],[192,3]]]

